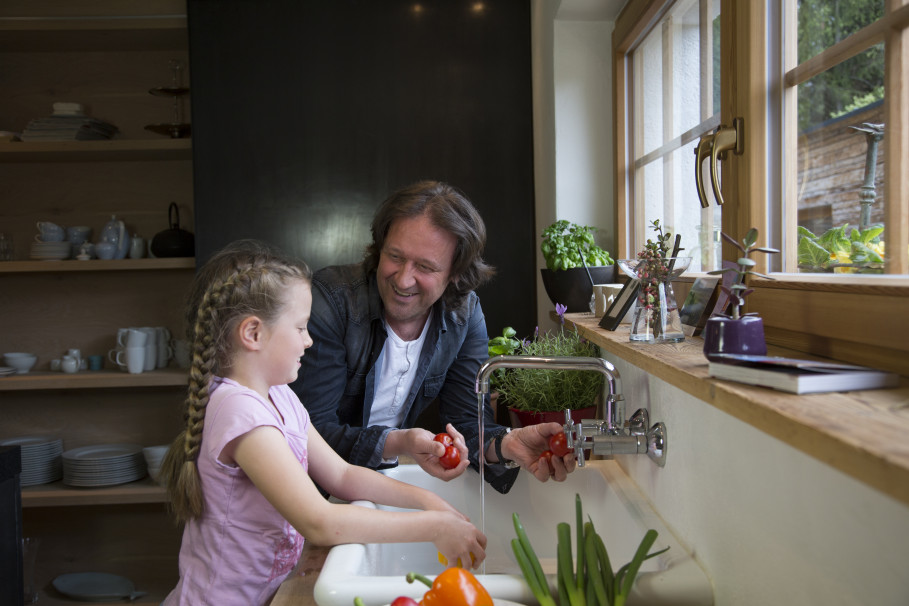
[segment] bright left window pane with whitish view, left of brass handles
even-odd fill
[[[695,185],[694,149],[719,120],[719,2],[682,0],[632,53],[634,69],[633,250],[641,250],[659,220],[681,234],[689,271],[718,267],[720,208],[702,209]],[[703,164],[706,173],[708,163]]]

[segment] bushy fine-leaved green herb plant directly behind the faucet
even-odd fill
[[[596,345],[581,338],[576,330],[565,329],[565,310],[564,305],[556,305],[561,321],[558,329],[540,333],[537,328],[531,339],[519,341],[514,338],[514,329],[506,328],[502,337],[490,339],[490,355],[597,357]],[[563,423],[565,409],[572,410],[575,420],[596,416],[603,376],[583,370],[499,369],[490,377],[490,389],[498,392],[500,403],[504,400],[508,405],[514,427]]]

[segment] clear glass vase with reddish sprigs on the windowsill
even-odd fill
[[[619,267],[640,282],[631,320],[632,341],[677,343],[685,340],[672,280],[688,269],[691,257],[620,259]]]

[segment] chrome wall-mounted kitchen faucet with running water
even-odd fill
[[[621,393],[619,371],[603,358],[571,356],[495,356],[477,371],[477,394],[489,393],[489,376],[499,368],[540,368],[552,370],[593,370],[602,373],[605,419],[584,419],[575,423],[565,410],[563,425],[568,443],[574,446],[578,466],[584,466],[584,451],[595,455],[646,454],[657,465],[666,464],[666,426],[655,423],[647,429],[650,417],[638,409],[625,420],[625,398]],[[482,401],[482,398],[480,399]],[[482,409],[480,409],[482,420]],[[482,421],[481,421],[482,422]]]

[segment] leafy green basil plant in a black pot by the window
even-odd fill
[[[595,231],[564,219],[543,230],[543,286],[553,304],[564,305],[569,312],[590,311],[593,284],[615,281],[615,262],[596,245]]]

